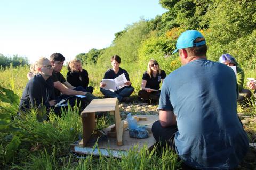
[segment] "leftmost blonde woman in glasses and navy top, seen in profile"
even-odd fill
[[[33,75],[27,83],[21,100],[20,109],[27,111],[31,107],[37,108],[40,104],[50,108],[56,104],[53,81],[50,78],[53,72],[51,62],[44,57],[39,58],[30,68]]]

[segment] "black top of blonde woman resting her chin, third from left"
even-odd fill
[[[82,72],[68,71],[67,81],[74,87],[82,86],[86,88],[89,84],[88,72],[82,69]]]

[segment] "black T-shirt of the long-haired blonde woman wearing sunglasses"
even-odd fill
[[[149,74],[146,71],[143,74],[142,79],[147,81],[145,87],[158,90],[160,89],[161,80],[164,79],[165,77],[166,77],[166,74],[164,70],[161,71],[161,74],[157,74],[156,77],[151,76],[151,78],[149,77]]]

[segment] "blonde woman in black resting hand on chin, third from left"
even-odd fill
[[[89,78],[88,72],[85,69],[82,69],[81,61],[74,59],[69,62],[67,73],[67,81],[74,87],[82,86],[85,91],[92,94],[93,87],[88,86]]]

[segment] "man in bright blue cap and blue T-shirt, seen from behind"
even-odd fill
[[[163,82],[154,138],[167,142],[189,167],[235,168],[249,147],[236,111],[236,75],[207,60],[205,38],[196,30],[183,32],[176,47],[182,66]]]

